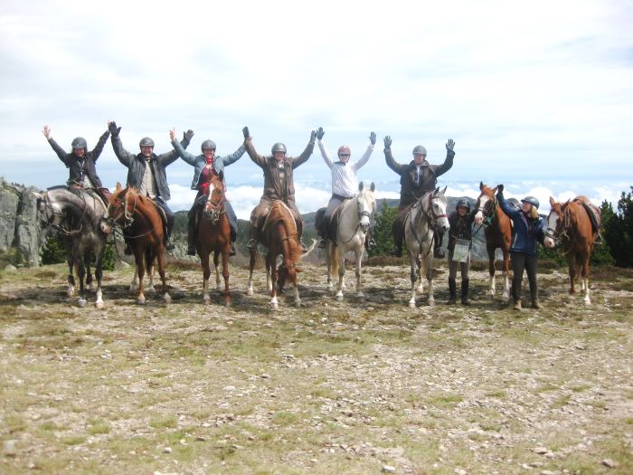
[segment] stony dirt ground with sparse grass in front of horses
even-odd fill
[[[169,305],[106,272],[105,309],[64,266],[0,271],[0,472],[633,473],[633,272],[593,271],[590,306],[543,270],[521,312],[487,271],[446,305],[439,261],[416,309],[403,261],[365,266],[365,299],[348,267],[343,302],[305,264],[278,311],[232,265],[229,309],[195,264]]]

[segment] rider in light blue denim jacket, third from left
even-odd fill
[[[244,155],[246,148],[242,145],[231,155],[216,157],[215,142],[213,142],[213,140],[204,140],[203,145],[200,147],[203,153],[195,157],[194,154],[186,152],[175,139],[175,130],[169,131],[169,137],[172,139],[172,145],[178,156],[189,165],[194,166],[194,181],[191,182],[191,189],[198,190],[198,194],[195,195],[194,205],[189,211],[189,222],[187,223],[187,254],[194,256],[196,220],[198,213],[203,209],[204,202],[206,202],[206,196],[209,194],[209,179],[212,175],[220,175],[224,166],[229,166],[237,162],[241,156]],[[231,226],[231,256],[234,256],[235,239],[237,238],[237,216],[228,200],[224,201],[224,209],[226,210],[229,225]]]

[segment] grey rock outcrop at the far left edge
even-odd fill
[[[40,265],[42,245],[33,186],[5,182],[0,177],[0,252],[14,248],[26,265]]]

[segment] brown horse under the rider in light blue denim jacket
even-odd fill
[[[231,252],[231,227],[226,215],[224,201],[226,199],[223,183],[223,172],[219,176],[212,176],[209,185],[209,196],[204,204],[204,210],[198,224],[196,250],[203,266],[203,301],[209,303],[209,255],[213,251],[213,266],[215,267],[215,286],[220,287],[220,271],[218,256],[222,253],[222,277],[224,278],[224,305],[231,306],[231,291],[229,290],[229,254]]]

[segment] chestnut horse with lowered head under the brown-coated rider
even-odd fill
[[[279,309],[277,293],[281,293],[284,284],[288,281],[292,284],[295,294],[295,305],[301,305],[297,283],[297,273],[300,271],[297,265],[301,260],[301,247],[297,233],[297,223],[290,209],[282,201],[275,201],[270,207],[266,222],[260,233],[260,242],[268,248],[266,254],[266,283],[270,291],[270,307]],[[277,256],[281,256],[279,269],[277,268]],[[257,250],[250,250],[250,275],[248,295],[253,294],[252,276],[257,258]]]

